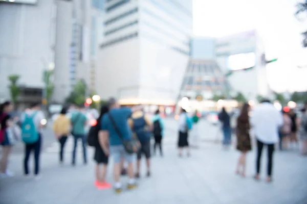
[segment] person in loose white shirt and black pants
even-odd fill
[[[251,124],[257,139],[257,160],[255,179],[259,180],[261,152],[264,145],[268,146],[268,175],[267,182],[272,181],[272,163],[274,144],[278,142],[278,129],[282,125],[282,114],[278,111],[270,100],[262,100],[252,112]]]

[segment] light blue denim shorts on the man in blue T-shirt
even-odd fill
[[[125,159],[127,163],[133,163],[136,157],[136,154],[128,154],[123,145],[110,146],[110,154],[116,164],[120,163],[122,158]]]

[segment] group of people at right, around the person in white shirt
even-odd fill
[[[297,132],[301,139],[301,154],[307,155],[307,114],[306,108],[300,111],[302,117],[297,120],[294,110],[290,110],[289,113],[285,111],[278,111],[270,100],[263,100],[262,103],[256,106],[253,110],[250,110],[248,104],[244,104],[239,116],[237,117],[235,134],[236,134],[236,149],[241,152],[236,173],[246,176],[246,154],[252,149],[252,139],[250,131],[253,129],[253,133],[256,139],[256,174],[254,178],[260,179],[260,163],[262,149],[264,146],[268,148],[268,167],[267,167],[267,182],[272,181],[272,167],[273,167],[273,153],[275,144],[279,141],[279,149],[284,148],[299,148]],[[251,113],[251,114],[250,114]],[[251,116],[250,116],[251,115]],[[218,119],[222,122],[223,130],[223,145],[228,147],[231,142],[231,125],[230,114],[223,108],[222,112],[218,115]]]

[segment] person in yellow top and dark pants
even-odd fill
[[[69,117],[67,117],[66,113],[67,109],[62,108],[60,115],[53,122],[53,131],[55,133],[55,137],[57,138],[60,144],[60,152],[59,152],[60,164],[63,163],[64,147],[71,130],[70,119]]]

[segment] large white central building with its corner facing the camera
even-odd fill
[[[126,105],[175,104],[191,34],[190,0],[107,0],[98,94]]]

